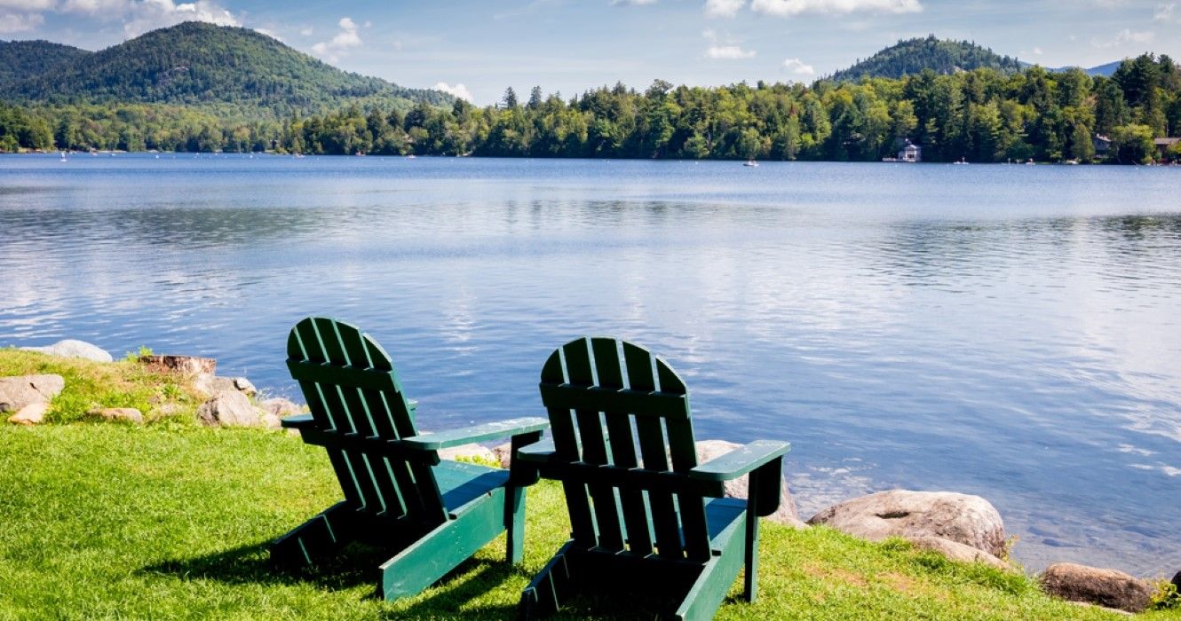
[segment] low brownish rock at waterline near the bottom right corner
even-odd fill
[[[1042,589],[1072,602],[1140,613],[1153,597],[1153,586],[1115,569],[1055,563],[1038,576]]]

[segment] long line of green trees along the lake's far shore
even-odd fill
[[[227,122],[214,109],[154,104],[0,105],[0,150],[8,151],[876,161],[909,139],[937,162],[1091,162],[1097,135],[1111,140],[1109,161],[1157,157],[1154,137],[1181,135],[1176,64],[1143,54],[1110,78],[1035,66],[811,85],[657,80],[644,92],[616,84],[570,99],[534,87],[523,102],[509,89],[487,107],[358,104],[282,122]]]

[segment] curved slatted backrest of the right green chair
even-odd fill
[[[615,339],[578,339],[546,361],[541,398],[556,459],[599,466],[600,483],[566,483],[576,545],[709,558],[703,496],[676,484],[697,465],[689,394],[664,360]]]

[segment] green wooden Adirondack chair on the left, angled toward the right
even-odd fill
[[[442,460],[439,449],[513,438],[537,442],[543,418],[518,418],[419,436],[390,357],[367,334],[308,318],[287,340],[287,367],[311,414],[288,417],[304,442],[324,446],[345,499],[270,544],[278,567],[315,564],[360,541],[389,550],[378,589],[413,595],[508,530],[508,560],[522,557],[524,490],[505,470]]]

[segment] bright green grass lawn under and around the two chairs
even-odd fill
[[[6,355],[0,374],[11,374]],[[151,398],[135,385],[120,390]],[[339,493],[324,450],[282,432],[176,418],[2,424],[0,619],[511,619],[569,528],[561,489],[542,482],[529,491],[521,567],[504,564],[501,537],[398,602],[374,596],[373,550],[305,575],[272,571],[267,543]],[[759,600],[737,601],[738,581],[718,619],[1117,619],[1053,601],[1019,574],[824,528],[764,524],[759,555]],[[568,613],[592,612],[651,616],[618,599]]]

